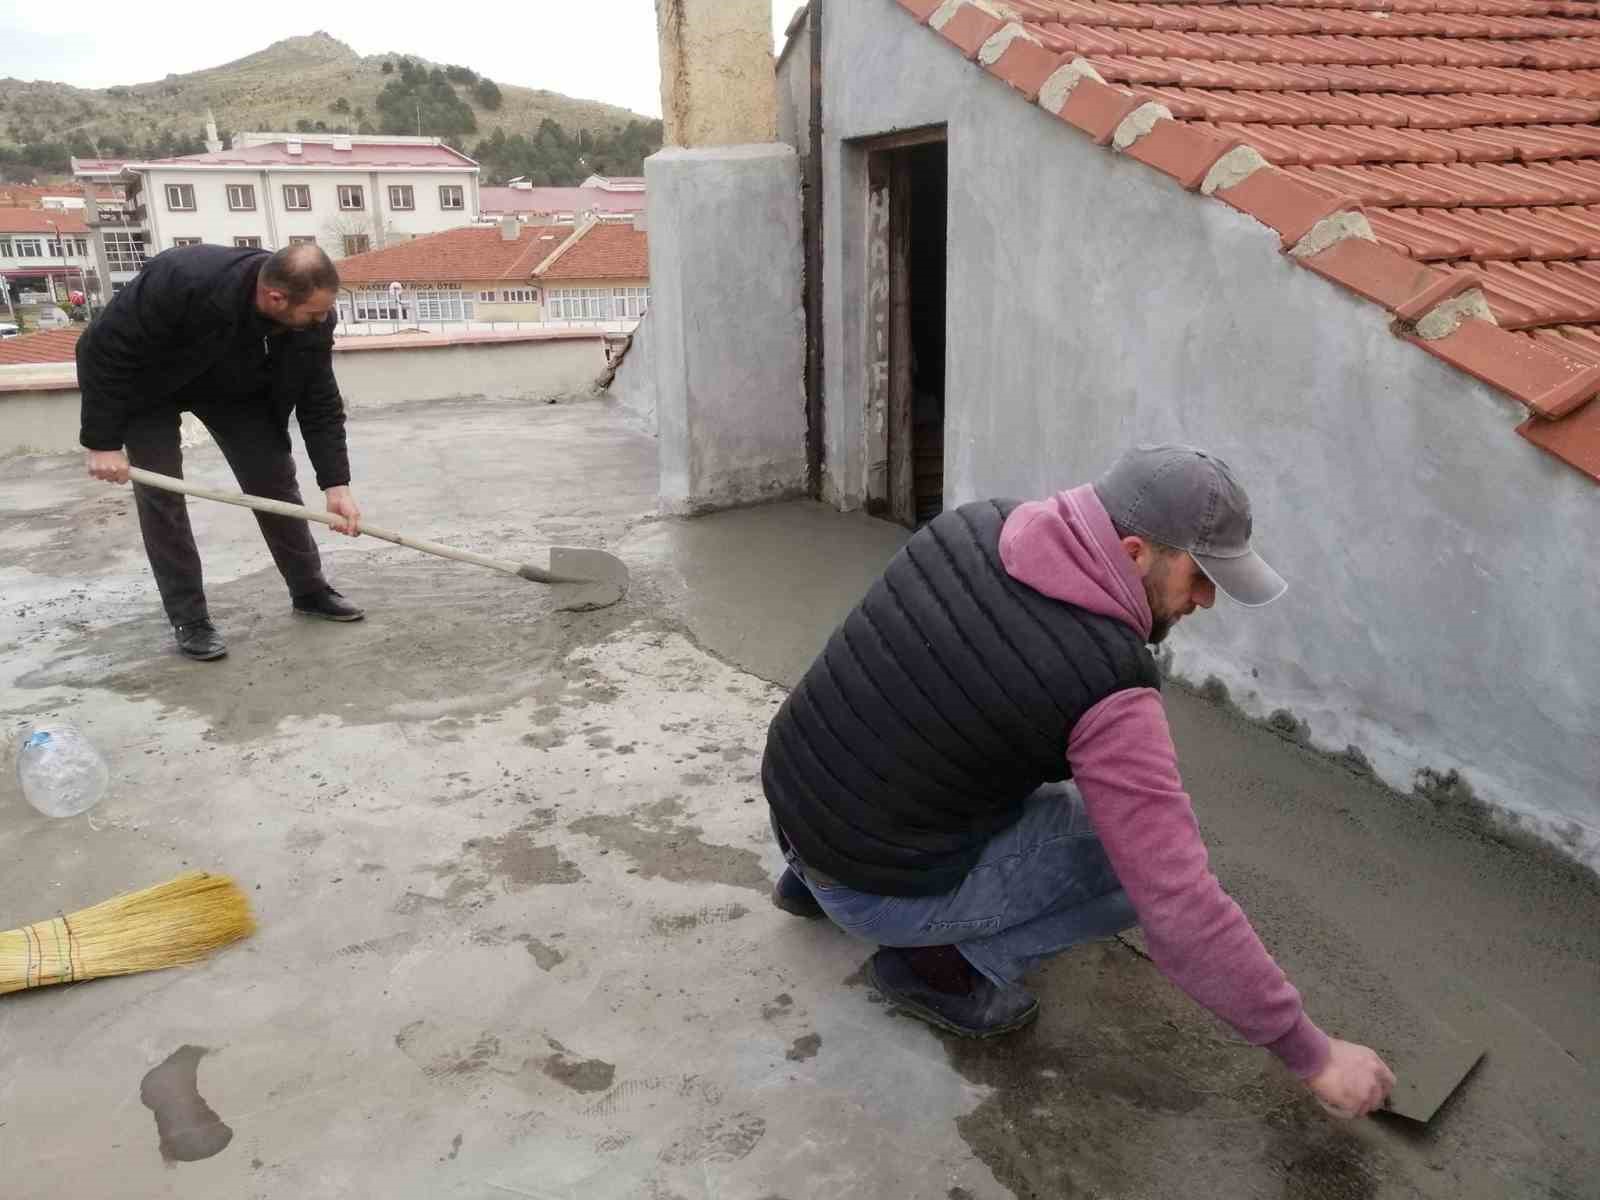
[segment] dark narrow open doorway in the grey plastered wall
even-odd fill
[[[909,528],[944,510],[947,163],[944,130],[867,158],[867,507]]]

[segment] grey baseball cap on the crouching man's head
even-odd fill
[[[1250,549],[1250,496],[1229,466],[1203,450],[1134,446],[1094,483],[1118,528],[1187,550],[1202,571],[1246,608],[1288,590]]]

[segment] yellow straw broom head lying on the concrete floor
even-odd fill
[[[256,931],[234,880],[195,870],[0,933],[0,995],[198,962]]]

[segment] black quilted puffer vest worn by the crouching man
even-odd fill
[[[773,718],[766,798],[800,861],[845,886],[950,891],[1067,778],[1085,712],[1160,686],[1130,626],[1006,574],[1016,506],[966,504],[912,536]]]

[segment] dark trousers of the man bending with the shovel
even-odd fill
[[[274,421],[264,403],[206,403],[194,405],[189,411],[211,430],[243,491],[301,502],[288,430]],[[184,454],[178,432],[181,416],[179,405],[173,403],[134,418],[123,435],[128,462],[182,478]],[[187,498],[138,483],[133,485],[133,496],[139,507],[144,552],[150,558],[155,586],[162,589],[166,616],[174,626],[206,621],[200,550],[195,549],[194,530],[189,528]],[[307,522],[258,512],[256,523],[291,597],[326,587],[322,557]]]

